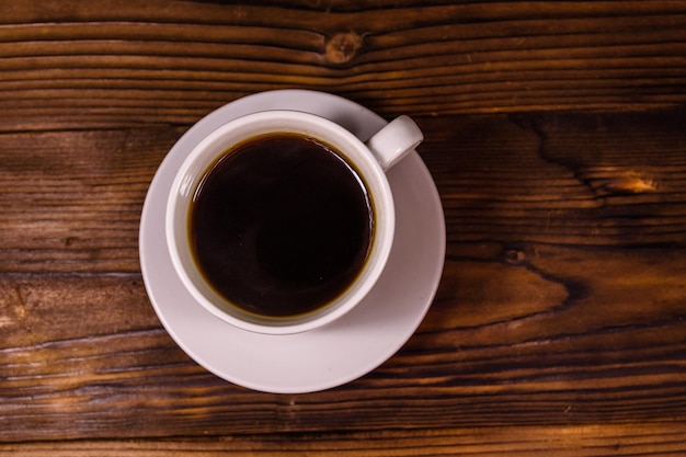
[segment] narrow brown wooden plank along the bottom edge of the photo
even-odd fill
[[[195,439],[79,441],[0,445],[0,456],[207,457],[284,456],[676,456],[686,452],[683,424],[483,427],[373,433],[219,436]]]

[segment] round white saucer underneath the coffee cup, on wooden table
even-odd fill
[[[428,170],[411,152],[388,172],[396,198],[396,239],[381,278],[362,304],[324,328],[295,335],[251,333],[214,317],[174,272],[164,238],[164,203],[174,173],[201,138],[231,118],[263,110],[319,114],[363,140],[386,125],[350,100],[304,90],[258,93],[208,114],[174,145],[150,184],[140,221],[142,277],[167,331],[206,369],[254,390],[312,392],[369,373],[414,333],[443,273],[445,219]]]

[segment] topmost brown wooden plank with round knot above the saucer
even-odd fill
[[[2,11],[3,129],[192,123],[279,88],[389,116],[686,102],[682,1],[68,0]]]

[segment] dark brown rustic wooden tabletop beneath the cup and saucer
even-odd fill
[[[686,2],[0,4],[0,455],[686,453]],[[240,2],[242,3],[242,2]],[[330,92],[426,141],[437,297],[347,385],[182,352],[138,260],[188,127]]]

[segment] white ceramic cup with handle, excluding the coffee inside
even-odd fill
[[[293,133],[316,138],[340,151],[362,175],[374,201],[375,231],[362,272],[347,289],[320,309],[294,318],[270,318],[228,302],[207,284],[194,261],[188,217],[196,188],[217,158],[232,146],[267,134]],[[263,111],[238,117],[205,137],[179,169],[167,202],[165,231],[174,270],[188,293],[209,312],[243,330],[291,334],[322,327],[359,304],[381,275],[395,233],[395,205],[385,171],[412,151],[423,135],[416,124],[400,116],[363,142],[332,121],[298,111]]]

